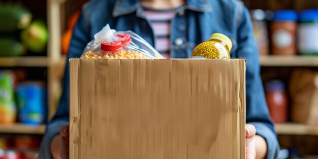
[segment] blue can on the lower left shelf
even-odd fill
[[[19,121],[42,124],[46,121],[46,92],[41,82],[19,83],[16,90]]]

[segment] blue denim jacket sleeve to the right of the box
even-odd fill
[[[265,101],[260,76],[259,51],[253,36],[248,10],[244,7],[237,30],[237,57],[246,58],[246,123],[256,127],[267,142],[267,158],[277,157],[279,144]]]

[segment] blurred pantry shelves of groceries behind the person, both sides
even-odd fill
[[[0,1],[0,159],[36,158],[86,2]],[[318,158],[318,1],[243,3],[260,49],[279,158]]]

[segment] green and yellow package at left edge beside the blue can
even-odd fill
[[[11,71],[0,71],[0,123],[12,123],[16,119],[13,81]]]

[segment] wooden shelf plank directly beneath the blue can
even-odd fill
[[[0,133],[42,135],[44,131],[45,125],[0,124]]]

